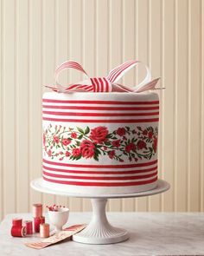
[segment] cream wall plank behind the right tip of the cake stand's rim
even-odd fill
[[[163,1],[163,84],[166,87],[163,97],[163,178],[169,181],[171,189],[163,194],[163,210],[174,210],[174,143],[175,143],[175,1]],[[168,131],[168,135],[165,133]]]

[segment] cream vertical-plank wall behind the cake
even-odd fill
[[[90,210],[89,200],[40,194],[41,94],[56,65],[82,63],[106,75],[121,62],[146,62],[161,76],[160,178],[168,193],[110,200],[110,211],[204,210],[204,3],[202,0],[1,0],[0,218],[32,203]],[[142,70],[124,84],[136,84]],[[64,72],[62,82],[80,75]]]

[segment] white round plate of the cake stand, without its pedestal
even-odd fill
[[[68,193],[66,191],[58,191],[51,189],[49,187],[43,186],[43,179],[37,178],[30,182],[30,187],[35,189],[38,192],[45,193],[45,194],[56,194],[61,196],[68,196],[68,197],[76,197],[76,198],[90,198],[90,199],[116,199],[116,198],[132,198],[132,197],[142,197],[142,196],[150,196],[154,194],[161,194],[170,188],[170,184],[167,181],[162,179],[157,180],[157,186],[151,190],[137,192],[137,193],[126,193],[126,194],[75,194],[75,193]]]

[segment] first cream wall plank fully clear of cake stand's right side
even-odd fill
[[[187,210],[188,2],[175,3],[175,211]],[[182,143],[180,142],[182,141]],[[181,171],[180,171],[181,170]]]

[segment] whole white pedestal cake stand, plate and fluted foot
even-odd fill
[[[66,195],[68,197],[80,197],[80,198],[90,198],[92,201],[92,220],[86,228],[73,235],[73,240],[85,244],[112,244],[122,242],[129,238],[129,234],[126,230],[112,226],[105,214],[105,205],[107,199],[112,198],[131,198],[131,197],[141,197],[153,194],[160,194],[167,191],[170,187],[167,181],[158,180],[157,187],[140,193],[131,194],[73,194],[68,191],[58,191],[45,187],[43,179],[36,179],[31,181],[30,186],[35,190],[46,193],[46,194],[58,194]]]

